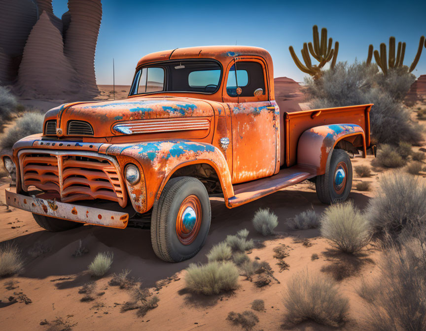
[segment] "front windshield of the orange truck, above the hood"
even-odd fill
[[[136,72],[130,95],[153,92],[214,93],[222,68],[215,61],[170,61],[144,66]]]

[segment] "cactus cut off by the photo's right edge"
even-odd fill
[[[411,66],[408,68],[408,72],[411,72],[414,70],[414,68],[417,66],[417,63],[419,62],[420,55],[422,55],[422,49],[423,49],[423,43],[425,43],[426,47],[426,41],[425,36],[420,37],[419,42],[419,48],[417,50],[417,54],[414,57],[414,60],[411,64]],[[388,74],[388,66],[389,68],[396,68],[401,67],[404,65],[404,56],[405,56],[405,42],[398,42],[398,48],[396,50],[396,58],[395,58],[395,37],[389,38],[389,62],[387,61],[386,57],[386,44],[381,43],[380,44],[380,53],[378,50],[374,51],[374,59],[376,60],[376,63],[380,68],[382,69],[383,73],[385,75]],[[368,47],[368,57],[367,57],[367,64],[371,63],[373,54],[373,45],[370,45]]]

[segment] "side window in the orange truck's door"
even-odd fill
[[[237,94],[237,87],[241,88],[240,95]],[[254,91],[263,90],[265,95],[265,81],[263,68],[257,62],[237,62],[231,66],[226,82],[226,93],[230,97],[254,97]]]

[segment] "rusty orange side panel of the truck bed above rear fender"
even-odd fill
[[[297,143],[303,132],[327,124],[356,124],[365,133],[365,143],[370,145],[370,110],[373,104],[302,110],[284,113],[285,165],[297,162]]]

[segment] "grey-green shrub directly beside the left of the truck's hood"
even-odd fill
[[[19,118],[15,126],[7,130],[1,137],[1,148],[12,148],[13,144],[30,134],[43,131],[44,115],[38,113],[25,113]]]

